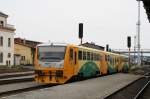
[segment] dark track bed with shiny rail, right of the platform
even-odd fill
[[[105,99],[149,99],[150,73],[123,87]]]

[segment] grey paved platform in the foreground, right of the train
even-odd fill
[[[104,99],[140,77],[140,75],[117,73],[24,92],[1,99]]]

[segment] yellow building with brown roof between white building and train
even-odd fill
[[[14,65],[33,65],[35,47],[40,42],[15,38],[14,43]]]

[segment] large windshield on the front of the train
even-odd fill
[[[43,62],[60,62],[64,60],[65,46],[39,46],[38,59]]]

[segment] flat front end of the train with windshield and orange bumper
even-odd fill
[[[65,53],[64,45],[38,45],[35,54],[35,81],[44,84],[65,83]]]

